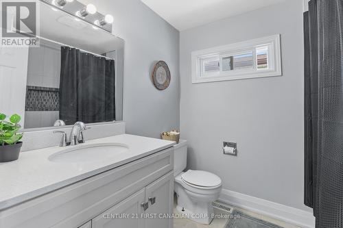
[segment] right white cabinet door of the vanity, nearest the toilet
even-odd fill
[[[173,219],[167,218],[174,208],[174,173],[169,173],[145,187],[145,201],[149,202],[147,214],[156,214],[145,219],[146,228],[172,228]]]

